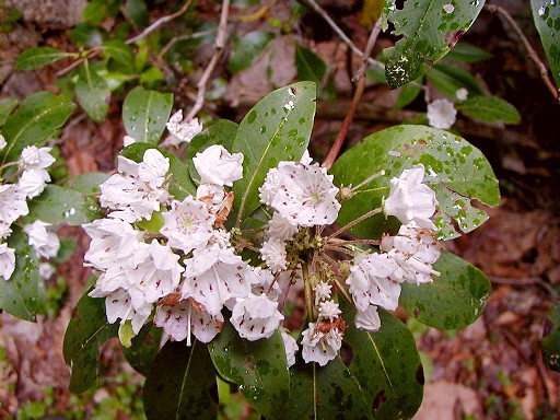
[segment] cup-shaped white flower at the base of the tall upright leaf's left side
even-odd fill
[[[192,158],[201,184],[226,185],[243,177],[243,153],[230,154],[221,144],[213,144]]]

